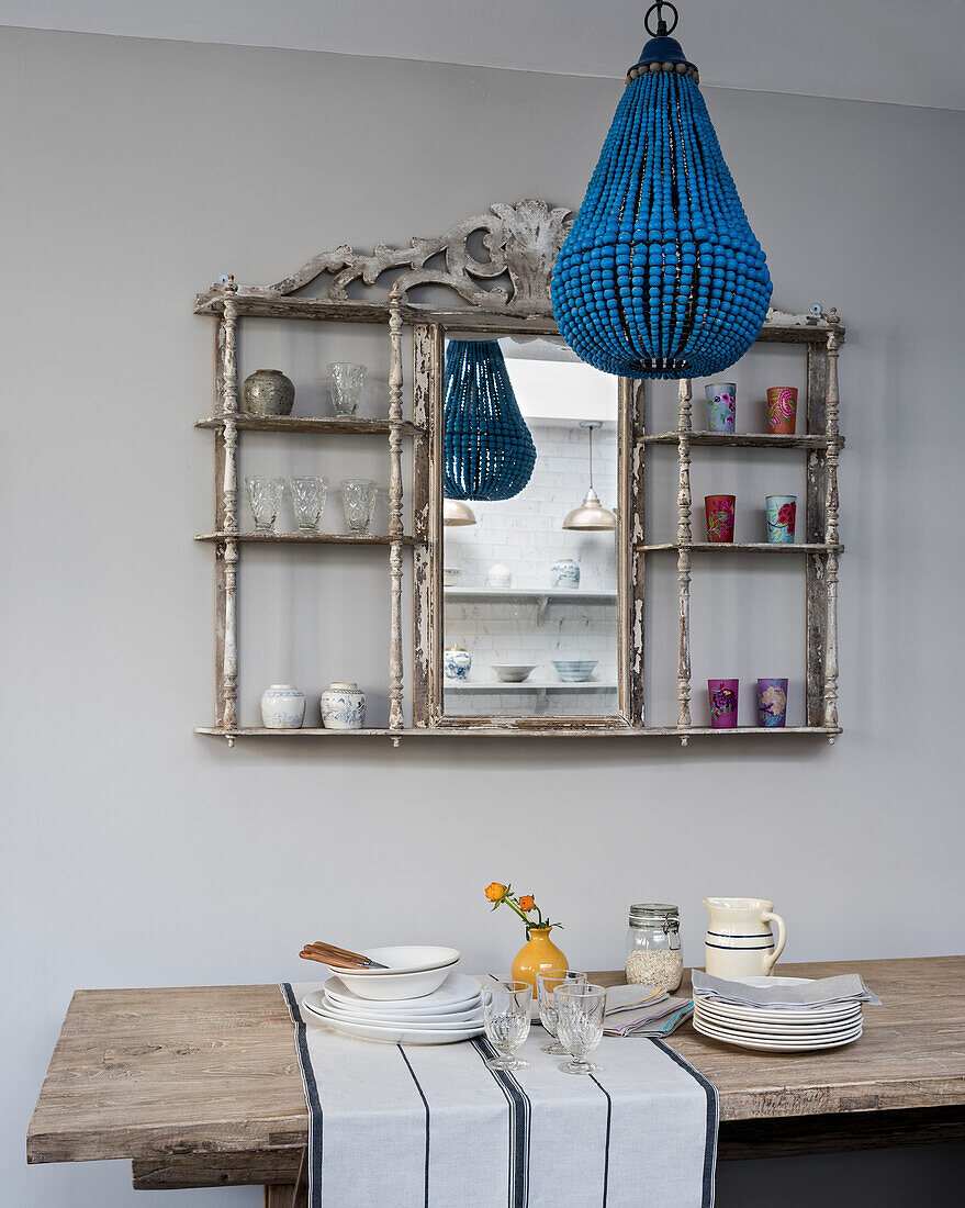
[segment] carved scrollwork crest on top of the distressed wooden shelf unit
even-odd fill
[[[239,298],[280,298],[306,289],[324,274],[327,297],[348,301],[347,288],[353,281],[376,285],[383,273],[405,268],[391,281],[394,292],[405,296],[417,285],[443,285],[466,302],[483,310],[513,315],[548,315],[550,279],[559,249],[572,226],[572,211],[565,207],[551,209],[546,202],[523,198],[516,205],[496,203],[487,214],[476,214],[458,222],[444,234],[431,239],[413,238],[408,248],[389,248],[380,243],[366,256],[342,245],[313,256],[291,277],[274,285],[239,285]],[[469,240],[482,236],[486,260],[469,250]],[[435,263],[434,263],[435,262]],[[506,284],[483,285],[495,278]],[[220,295],[215,286],[198,301]]]

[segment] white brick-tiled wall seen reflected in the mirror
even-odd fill
[[[614,401],[616,410],[616,400]],[[459,583],[446,590],[444,644],[472,655],[469,684],[492,685],[493,663],[535,663],[527,683],[559,685],[553,660],[594,660],[592,680],[612,685],[581,691],[568,685],[547,691],[446,692],[447,715],[587,715],[617,709],[616,597],[586,598],[587,592],[616,591],[616,538],[612,533],[564,529],[563,518],[589,486],[589,439],[576,420],[530,420],[536,466],[515,499],[473,503],[477,524],[448,528],[446,568],[460,570]],[[604,507],[617,503],[617,431],[611,420],[593,434],[593,483]],[[515,590],[550,590],[551,569],[560,558],[580,567],[580,587],[562,599],[460,599],[460,592],[484,588],[489,568],[508,567]]]

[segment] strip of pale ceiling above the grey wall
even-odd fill
[[[0,0],[0,25],[622,79],[647,0]],[[707,85],[965,109],[965,0],[678,0]]]

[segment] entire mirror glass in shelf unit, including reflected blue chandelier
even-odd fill
[[[617,379],[554,338],[446,352],[444,713],[614,715]]]

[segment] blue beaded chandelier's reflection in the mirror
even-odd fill
[[[443,493],[512,499],[536,464],[536,446],[494,339],[450,339],[446,349]]]

